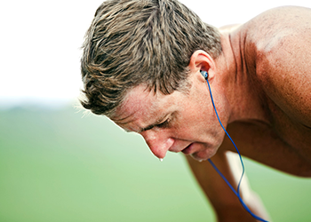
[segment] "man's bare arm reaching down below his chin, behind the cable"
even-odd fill
[[[219,151],[211,158],[221,173],[227,178],[230,184],[237,187],[242,174],[239,157],[231,152]],[[251,215],[243,209],[237,196],[227,186],[226,182],[219,176],[208,161],[199,163],[192,157],[187,156],[191,170],[195,174],[203,192],[209,198],[211,205],[216,211],[218,221],[255,221]],[[243,201],[249,205],[251,211],[260,217],[267,218],[267,213],[261,205],[259,198],[251,191],[248,180],[244,175],[240,186]]]

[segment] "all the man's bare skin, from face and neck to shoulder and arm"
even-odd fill
[[[209,73],[220,120],[242,155],[311,177],[311,10],[276,8],[220,31],[223,53],[218,59],[193,53],[187,93],[155,94],[140,85],[112,120],[140,133],[159,158],[167,151],[186,154],[219,221],[255,221],[209,163],[196,161],[211,158],[236,187],[227,155],[235,147],[219,126],[200,70]],[[256,195],[248,193],[251,210],[267,218]]]

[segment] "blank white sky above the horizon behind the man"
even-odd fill
[[[243,23],[281,5],[306,0],[181,0],[215,27]],[[82,86],[80,47],[102,0],[16,0],[0,3],[0,108],[75,100]]]

